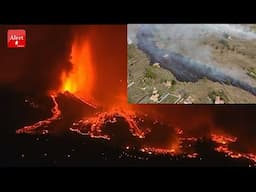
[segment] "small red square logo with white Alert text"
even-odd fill
[[[7,32],[8,48],[20,48],[26,46],[26,31],[23,29],[10,29]]]

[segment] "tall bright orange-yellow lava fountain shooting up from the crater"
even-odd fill
[[[68,91],[88,101],[92,100],[94,71],[91,59],[90,41],[74,41],[71,52],[72,70],[63,72],[61,92]]]

